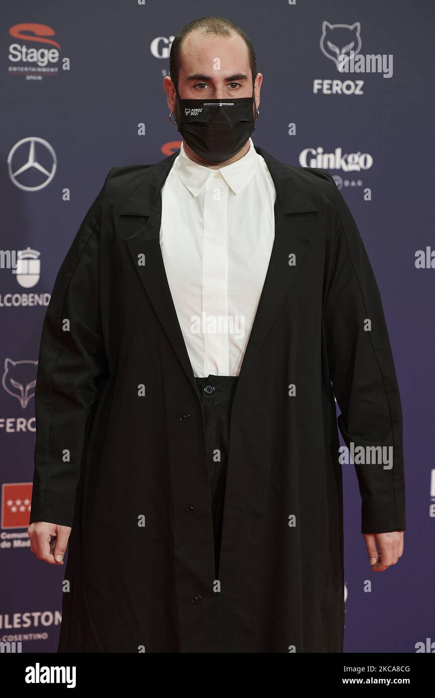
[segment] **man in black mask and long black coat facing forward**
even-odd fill
[[[191,22],[170,74],[181,151],[109,172],[43,325],[29,535],[51,564],[69,537],[58,651],[341,652],[334,395],[349,452],[394,455],[355,458],[371,569],[403,551],[376,281],[330,174],[254,146],[246,34]]]

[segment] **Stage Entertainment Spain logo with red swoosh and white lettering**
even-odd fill
[[[47,75],[59,73],[61,45],[56,34],[47,24],[24,22],[10,27],[9,34],[15,41],[9,45],[10,75],[24,75],[26,80],[42,80]],[[64,58],[62,70],[69,70],[69,59]]]

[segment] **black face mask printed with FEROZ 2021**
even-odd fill
[[[194,153],[223,163],[244,146],[256,126],[254,96],[225,99],[178,99],[177,131]]]

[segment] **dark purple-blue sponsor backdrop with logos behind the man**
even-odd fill
[[[114,166],[179,148],[163,77],[171,41],[215,14],[242,27],[263,73],[256,144],[327,168],[360,228],[383,299],[404,412],[405,552],[369,567],[344,465],[346,652],[435,652],[434,119],[428,0],[23,0],[1,6],[0,641],[54,652],[65,567],[27,525],[40,330],[55,276]],[[431,21],[432,20],[432,21]],[[351,38],[349,40],[349,37]],[[339,54],[353,60],[342,70]],[[13,267],[16,251],[17,268]]]

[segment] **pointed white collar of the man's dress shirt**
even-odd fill
[[[193,196],[197,196],[209,177],[213,177],[217,172],[226,181],[230,189],[238,194],[242,189],[249,184],[257,167],[257,153],[253,147],[252,139],[249,138],[249,151],[235,163],[225,165],[217,170],[207,168],[205,165],[198,165],[186,155],[183,143],[179,150],[179,156],[175,161],[175,171],[182,180],[184,186],[189,189]]]

